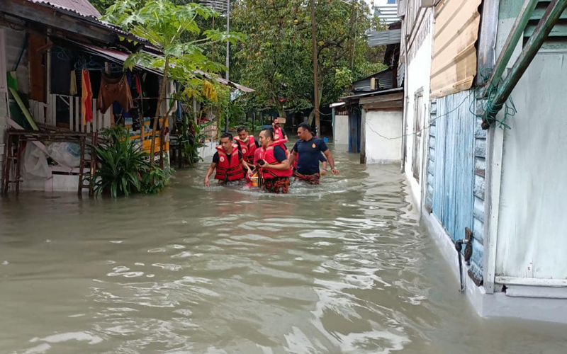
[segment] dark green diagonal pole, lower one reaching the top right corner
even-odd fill
[[[544,44],[547,36],[551,32],[551,29],[554,28],[554,25],[559,20],[559,17],[565,8],[567,8],[567,0],[551,1],[551,4],[547,7],[544,16],[537,24],[534,33],[524,46],[520,57],[518,57],[514,66],[510,70],[510,74],[508,74],[503,84],[498,88],[498,92],[493,98],[493,103],[490,105],[490,118],[495,118],[498,111],[502,109],[503,104],[506,102],[508,97],[510,97],[510,93],[512,93],[512,90],[515,88],[518,81],[520,81],[520,78],[536,56],[541,45]]]

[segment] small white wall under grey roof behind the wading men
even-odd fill
[[[401,111],[366,112],[366,164],[393,164],[402,159],[402,140],[386,139],[385,137],[400,137],[402,135]]]

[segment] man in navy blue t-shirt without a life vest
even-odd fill
[[[311,127],[305,123],[301,123],[297,128],[297,136],[299,141],[291,149],[289,163],[297,161],[297,170],[293,173],[296,179],[306,181],[310,184],[319,184],[321,174],[319,171],[319,156],[321,153],[327,157],[327,161],[331,166],[331,173],[335,176],[339,174],[339,170],[335,169],[335,159],[327,147],[323,139],[313,137]]]

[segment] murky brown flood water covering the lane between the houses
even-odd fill
[[[567,326],[476,316],[398,166],[335,157],[289,195],[204,188],[206,161],[0,200],[0,353],[566,353]]]

